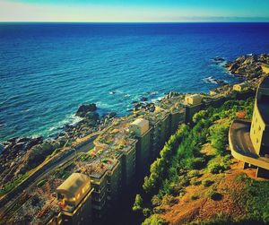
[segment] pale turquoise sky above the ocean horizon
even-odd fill
[[[269,22],[269,0],[0,0],[0,22]]]

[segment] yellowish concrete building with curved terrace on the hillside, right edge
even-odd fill
[[[244,161],[244,168],[257,168],[256,177],[269,178],[269,77],[260,83],[252,122],[235,120],[230,126],[231,154]]]

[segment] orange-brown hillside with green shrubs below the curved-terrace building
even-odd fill
[[[228,131],[253,99],[226,101],[181,125],[152,163],[133,210],[148,224],[268,224],[269,181],[230,156]],[[143,220],[142,219],[142,220]]]

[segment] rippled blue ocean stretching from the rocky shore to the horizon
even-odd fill
[[[235,82],[212,58],[269,51],[269,23],[0,23],[0,141],[53,134],[75,110]],[[111,94],[115,91],[115,94]]]

